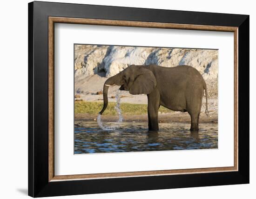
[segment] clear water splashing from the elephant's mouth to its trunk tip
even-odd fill
[[[120,123],[123,121],[123,116],[120,108],[120,101],[121,101],[121,91],[118,89],[116,94],[115,94],[115,100],[116,100],[116,105],[115,105],[115,110],[118,113],[118,120],[116,121],[115,126],[104,126],[102,121],[101,121],[101,114],[98,114],[97,116],[97,123],[101,127],[102,130],[105,131],[110,131],[110,130],[115,130],[120,126]]]

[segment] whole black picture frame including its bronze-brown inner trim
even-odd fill
[[[54,175],[54,24],[234,33],[234,166]],[[28,4],[28,195],[249,183],[249,15],[34,1]]]

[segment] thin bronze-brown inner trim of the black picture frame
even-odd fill
[[[54,23],[233,32],[234,33],[234,166],[55,176],[54,175]],[[60,181],[60,180],[122,178],[122,177],[238,171],[238,27],[205,26],[205,25],[173,24],[173,23],[157,23],[157,22],[125,21],[125,20],[99,20],[99,19],[81,19],[81,18],[66,18],[66,17],[48,17],[48,99],[49,99],[49,102],[48,102],[48,181],[49,182]]]

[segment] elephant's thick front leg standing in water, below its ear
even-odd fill
[[[155,88],[148,94],[148,131],[158,131],[158,110],[160,103],[160,93]]]

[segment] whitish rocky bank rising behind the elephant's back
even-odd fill
[[[185,48],[75,45],[75,78],[104,72],[111,77],[130,65],[189,65],[205,80],[218,78],[218,51]]]

